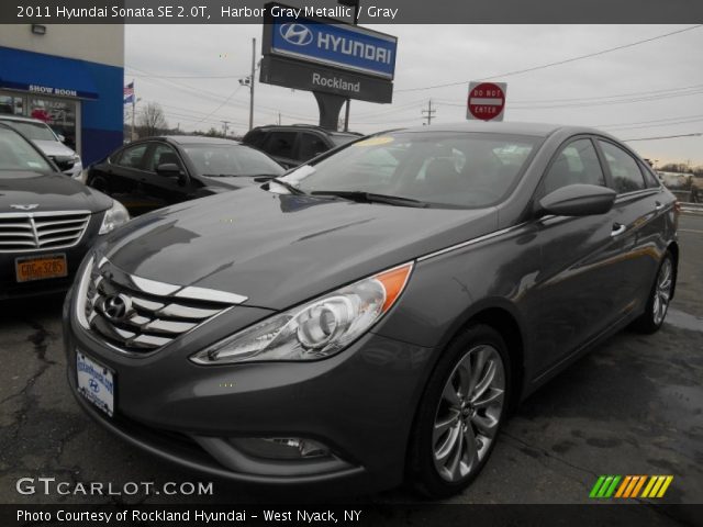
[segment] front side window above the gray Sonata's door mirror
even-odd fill
[[[542,182],[543,195],[577,183],[605,187],[603,169],[591,139],[577,139],[563,147]]]

